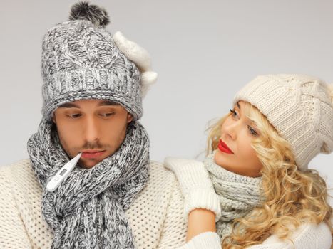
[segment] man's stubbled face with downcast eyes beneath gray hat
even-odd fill
[[[68,102],[53,115],[61,146],[71,158],[83,152],[79,165],[84,168],[116,152],[132,120],[124,107],[109,100]]]

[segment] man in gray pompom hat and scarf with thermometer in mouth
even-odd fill
[[[0,169],[0,248],[177,248],[185,242],[183,198],[173,174],[149,161],[138,122],[148,87],[138,68],[151,82],[150,63],[120,34],[124,53],[118,49],[98,6],[75,4],[69,19],[43,38],[43,117],[30,159]]]

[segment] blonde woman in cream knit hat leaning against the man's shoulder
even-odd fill
[[[306,75],[255,78],[210,129],[203,163],[165,159],[189,214],[182,248],[330,248],[327,186],[307,166],[332,150],[332,85]]]

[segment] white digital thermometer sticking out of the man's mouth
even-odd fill
[[[46,185],[47,191],[54,191],[58,186],[67,178],[68,174],[74,169],[76,164],[78,163],[78,159],[80,159],[82,152],[76,155],[71,161],[68,161],[62,168],[58,171],[56,175],[54,175],[48,184]]]

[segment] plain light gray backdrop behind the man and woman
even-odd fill
[[[28,157],[41,120],[41,38],[74,1],[1,1],[0,165]],[[307,73],[333,82],[333,1],[92,1],[111,32],[150,52],[158,83],[144,100],[150,156],[203,158],[208,121],[255,75]],[[310,166],[333,186],[333,154]]]

